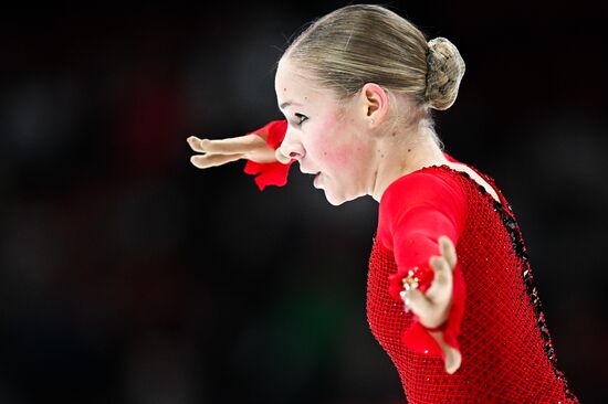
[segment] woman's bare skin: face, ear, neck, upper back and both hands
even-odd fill
[[[398,178],[428,166],[445,164],[464,171],[499,200],[494,189],[469,167],[448,161],[434,142],[430,129],[417,125],[391,125],[396,117],[412,108],[409,98],[390,94],[375,83],[365,84],[348,99],[338,99],[329,89],[316,85],[306,72],[283,57],[275,76],[280,109],[289,121],[285,139],[274,151],[265,142],[266,134],[221,140],[188,138],[195,167],[206,169],[230,161],[258,162],[292,159],[300,170],[314,174],[315,188],[325,192],[334,205],[370,195],[380,201],[384,191]],[[429,328],[442,325],[452,301],[452,272],[457,263],[453,243],[439,237],[440,255],[430,258],[434,270],[426,294],[409,290],[401,297]],[[442,332],[431,332],[445,354],[445,371],[454,373],[460,353],[443,341]]]

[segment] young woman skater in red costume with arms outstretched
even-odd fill
[[[378,6],[312,23],[281,57],[286,120],[188,138],[198,168],[248,159],[258,185],[292,162],[338,205],[379,202],[367,317],[410,403],[577,403],[557,369],[523,238],[504,195],[442,151],[430,109],[455,100],[464,62]]]

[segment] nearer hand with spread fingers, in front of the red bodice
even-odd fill
[[[426,294],[418,289],[401,291],[401,298],[413,311],[420,323],[427,328],[437,328],[448,319],[452,302],[453,276],[457,264],[454,245],[447,236],[439,237],[440,256],[432,256],[430,265],[434,272],[431,287]],[[443,341],[443,332],[430,331],[445,354],[445,371],[454,373],[462,362],[460,352]]]

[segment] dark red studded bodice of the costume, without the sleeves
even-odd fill
[[[578,403],[557,370],[512,208],[489,177],[482,176],[503,203],[464,172],[448,167],[428,170],[458,180],[468,198],[468,223],[457,246],[468,290],[459,337],[463,363],[448,375],[441,359],[403,348],[401,334],[412,313],[398,310],[388,296],[387,278],[397,266],[392,254],[375,241],[368,273],[368,322],[397,366],[408,402],[526,403],[542,397],[543,402]]]

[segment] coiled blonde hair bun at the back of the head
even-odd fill
[[[464,61],[454,44],[444,38],[436,38],[428,45],[424,96],[431,108],[448,109],[455,102],[464,75]]]

